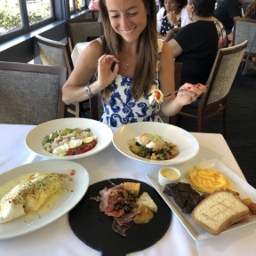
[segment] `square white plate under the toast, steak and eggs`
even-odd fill
[[[215,170],[218,170],[225,174],[228,177],[228,180],[231,181],[233,189],[237,191],[240,194],[240,197],[242,199],[250,197],[252,201],[256,202],[256,190],[252,188],[250,184],[248,184],[245,180],[240,178],[238,175],[236,175],[235,172],[232,172],[225,164],[222,164],[217,159],[212,159],[196,164],[188,164],[184,166],[179,166],[179,170],[181,172],[181,179],[180,182],[187,182],[189,183],[189,180],[187,178],[187,173],[194,169],[194,165],[199,165],[201,168],[212,168]],[[192,236],[195,240],[204,240],[207,238],[211,238],[212,235],[204,230],[204,228],[199,227],[196,222],[191,217],[190,213],[183,213],[180,210],[180,207],[174,202],[172,196],[166,195],[158,181],[157,181],[157,174],[158,172],[151,172],[147,174],[148,180],[151,182],[151,184],[156,188],[156,191],[159,193],[160,196],[163,197],[166,204],[169,205],[169,207],[172,209],[172,212],[177,216],[177,218],[180,220],[181,224],[184,226],[184,228],[187,229],[190,236]],[[237,231],[237,228],[242,228],[247,225],[252,225],[252,223],[256,223],[256,215],[250,217],[249,222],[240,223],[240,224],[234,224],[227,228],[225,231],[221,232],[219,236],[222,234],[225,234],[230,231]],[[241,231],[240,231],[241,232]]]

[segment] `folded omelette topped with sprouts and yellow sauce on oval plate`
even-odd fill
[[[65,175],[56,172],[30,173],[1,187],[0,223],[14,220],[21,215],[33,216],[51,210],[62,196]],[[8,192],[3,194],[6,190]],[[1,195],[4,196],[1,198]]]

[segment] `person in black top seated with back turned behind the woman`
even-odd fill
[[[192,21],[168,42],[175,61],[182,62],[181,84],[205,84],[218,49],[227,45],[225,28],[214,13],[214,0],[188,0]]]

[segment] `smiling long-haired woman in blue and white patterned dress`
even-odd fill
[[[172,48],[156,36],[155,0],[100,0],[104,36],[81,53],[63,86],[66,104],[88,100],[100,93],[109,127],[137,122],[162,122],[157,102],[149,102],[152,89],[164,95],[174,91]],[[90,79],[97,73],[92,84]],[[164,97],[161,111],[173,116],[195,101],[206,88],[183,84],[186,92]]]

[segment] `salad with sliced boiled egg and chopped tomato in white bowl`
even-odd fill
[[[90,128],[66,128],[55,130],[45,136],[43,147],[46,151],[58,156],[80,155],[92,150],[98,139]]]

